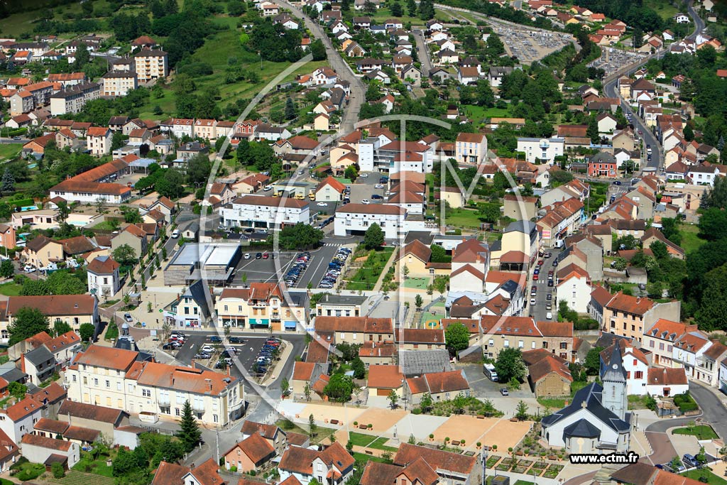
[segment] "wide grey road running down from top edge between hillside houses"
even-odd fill
[[[348,105],[343,110],[343,116],[341,117],[340,132],[348,133],[353,131],[353,125],[358,121],[358,112],[361,111],[361,103],[364,103],[366,87],[364,83],[358,77],[354,76],[348,64],[345,63],[340,55],[340,52],[334,47],[326,35],[323,28],[318,22],[311,20],[308,15],[305,15],[301,9],[295,7],[287,1],[281,0],[281,5],[289,9],[292,14],[305,22],[305,27],[313,33],[316,39],[321,39],[324,46],[326,46],[326,58],[331,63],[331,67],[340,76],[341,79],[348,81],[351,87],[351,93],[348,97]]]

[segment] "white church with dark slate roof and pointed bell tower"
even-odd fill
[[[631,413],[627,412],[626,371],[614,345],[603,385],[593,382],[579,390],[569,406],[542,419],[542,438],[568,453],[627,452]]]

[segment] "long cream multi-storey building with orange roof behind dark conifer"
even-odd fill
[[[132,350],[92,345],[65,374],[68,398],[129,414],[180,419],[189,401],[201,424],[224,427],[244,412],[244,386],[227,374],[137,361]]]

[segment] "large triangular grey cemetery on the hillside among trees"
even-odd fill
[[[558,32],[524,31],[500,23],[491,23],[492,31],[499,36],[508,55],[518,57],[523,64],[530,64],[563,49],[571,43],[571,35]]]

